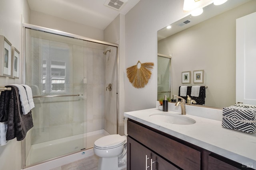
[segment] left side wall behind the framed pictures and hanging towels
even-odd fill
[[[26,0],[1,0],[0,35],[4,35],[18,51],[22,59],[22,22],[30,22],[30,9]],[[21,60],[22,61],[22,60]],[[0,86],[22,83],[22,62],[20,78],[0,77]],[[12,139],[7,145],[0,146],[0,169],[20,170],[22,168],[21,142]]]

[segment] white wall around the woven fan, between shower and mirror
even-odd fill
[[[157,100],[157,31],[180,20],[182,0],[140,0],[125,15],[125,68],[141,63],[154,63],[151,78],[144,88],[134,88],[124,78],[125,111],[156,107]]]

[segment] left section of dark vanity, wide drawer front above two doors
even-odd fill
[[[149,128],[149,127],[148,127]],[[146,170],[146,155],[152,157],[157,170],[199,170],[201,152],[156,133],[138,122],[128,120],[127,169]],[[140,150],[141,149],[141,150]],[[146,151],[144,151],[146,150]],[[155,155],[156,159],[154,158]],[[152,169],[155,170],[154,164]],[[160,168],[162,167],[162,169]],[[150,168],[148,168],[150,170]]]

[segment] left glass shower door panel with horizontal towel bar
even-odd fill
[[[84,41],[25,29],[25,83],[32,88],[34,127],[26,166],[84,149]],[[81,64],[82,63],[82,64]]]

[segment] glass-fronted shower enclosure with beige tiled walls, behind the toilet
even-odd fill
[[[30,24],[24,34],[24,84],[35,103],[24,168],[118,133],[118,45]]]

